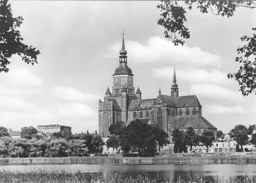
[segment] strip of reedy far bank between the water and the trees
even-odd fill
[[[120,156],[91,156],[91,157],[27,157],[0,158],[0,165],[20,164],[256,164],[255,153],[172,153],[158,157],[120,157]]]

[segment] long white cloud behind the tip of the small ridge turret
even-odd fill
[[[173,79],[174,68],[163,67],[154,68],[152,70],[153,75],[157,78]],[[215,68],[210,72],[206,70],[176,70],[177,80],[185,80],[191,82],[204,82],[204,83],[216,83],[227,84],[231,83],[231,80],[227,79],[227,75]]]

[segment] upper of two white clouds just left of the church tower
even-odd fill
[[[66,86],[55,86],[54,94],[60,99],[68,101],[94,101],[99,99],[97,95],[83,94],[76,88]]]

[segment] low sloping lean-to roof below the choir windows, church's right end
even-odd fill
[[[178,117],[168,117],[168,120],[173,123],[175,127],[178,128],[209,128],[209,129],[217,129],[214,125],[208,122],[202,116],[178,116]]]

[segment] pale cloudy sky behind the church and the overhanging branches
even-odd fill
[[[251,35],[256,11],[231,18],[187,13],[190,39],[175,47],[157,25],[160,1],[10,1],[22,15],[24,43],[40,50],[38,64],[14,55],[0,74],[1,125],[68,125],[75,133],[98,130],[98,101],[113,85],[124,30],[127,63],[142,99],[170,95],[176,67],[181,95],[196,95],[202,115],[223,132],[255,124],[256,96],[243,97],[234,61],[243,35]],[[182,3],[182,2],[180,2]]]

